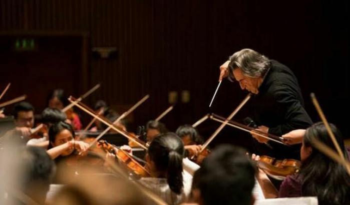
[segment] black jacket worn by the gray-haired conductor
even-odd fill
[[[268,132],[276,136],[294,129],[305,129],[312,124],[303,107],[304,101],[296,77],[289,68],[274,60],[271,60],[271,67],[258,94],[252,98],[252,105],[256,124],[269,127]],[[272,141],[269,144],[272,150],[260,154],[270,154],[276,158],[300,157],[300,145],[286,147]],[[264,144],[257,146],[261,148]]]

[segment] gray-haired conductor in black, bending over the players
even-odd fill
[[[219,80],[224,77],[237,81],[242,90],[254,94],[251,103],[257,130],[281,136],[312,124],[303,107],[297,79],[285,65],[251,49],[243,49],[220,66]],[[259,142],[253,142],[259,154],[275,158],[299,157],[299,145],[287,147],[260,136],[253,137]]]

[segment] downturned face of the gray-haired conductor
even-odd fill
[[[244,76],[242,73],[242,70],[240,68],[233,70],[233,76],[236,79],[236,81],[239,82],[239,85],[241,86],[242,90],[247,90],[251,93],[257,94],[259,92],[259,82],[260,78],[252,78]]]

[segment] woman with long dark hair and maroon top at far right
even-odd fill
[[[340,131],[332,124],[330,128],[344,158],[348,159]],[[302,164],[299,173],[287,176],[277,191],[264,172],[259,170],[257,180],[260,186],[270,197],[317,196],[319,204],[349,204],[350,176],[341,164],[314,148],[311,143],[313,139],[336,150],[324,124],[315,123],[305,131],[300,150]]]

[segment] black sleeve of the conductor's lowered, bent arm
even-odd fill
[[[270,127],[268,130],[270,134],[281,136],[294,129],[305,129],[312,124],[311,118],[290,87],[276,86],[273,98],[277,104],[277,112],[282,115],[284,121],[275,127]]]

